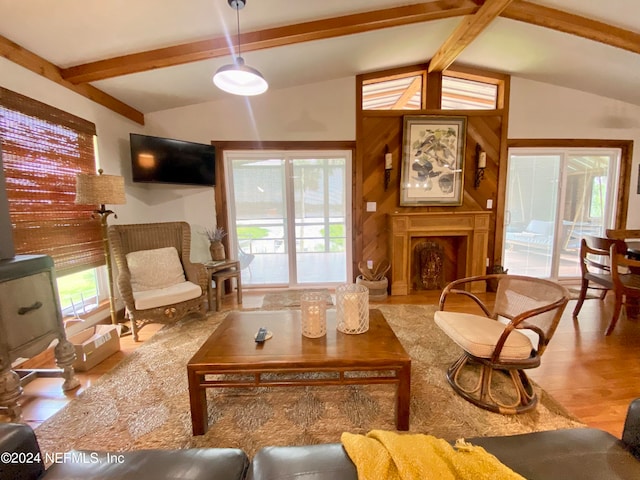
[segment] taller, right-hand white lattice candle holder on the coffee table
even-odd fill
[[[358,334],[369,330],[369,289],[356,284],[338,285],[336,320],[342,333]]]

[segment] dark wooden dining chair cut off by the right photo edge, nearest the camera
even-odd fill
[[[627,316],[630,316],[631,309],[634,310],[633,315],[637,315],[638,301],[640,301],[640,260],[628,258],[626,247],[620,247],[619,243],[611,245],[611,278],[616,300],[605,335],[613,332],[623,304]]]

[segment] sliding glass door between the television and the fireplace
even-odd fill
[[[351,278],[350,151],[227,151],[225,166],[243,286]]]

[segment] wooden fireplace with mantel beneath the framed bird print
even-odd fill
[[[442,288],[452,280],[486,273],[490,215],[490,212],[390,214],[391,295],[408,295],[412,290],[423,289],[425,282],[428,288]],[[433,252],[418,253],[423,256],[421,260],[416,258],[416,251],[422,244],[431,244]],[[480,284],[474,288],[483,291]]]

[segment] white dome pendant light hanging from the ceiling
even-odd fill
[[[240,55],[240,9],[244,8],[247,0],[227,0],[229,6],[236,11],[238,27],[238,56],[233,63],[224,65],[213,76],[213,83],[227,93],[234,95],[260,95],[267,91],[269,84],[262,74],[248,65],[245,65]]]

